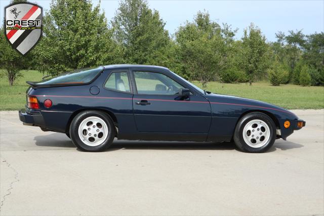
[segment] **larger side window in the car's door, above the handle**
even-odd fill
[[[166,75],[148,72],[134,71],[134,78],[138,94],[177,94],[180,88],[184,88]]]

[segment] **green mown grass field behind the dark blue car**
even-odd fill
[[[19,78],[15,85],[10,87],[4,71],[0,70],[0,110],[23,108],[26,103],[25,92],[28,88],[26,81],[39,81],[45,76],[36,70],[23,71],[23,75],[23,78]],[[201,87],[198,82],[193,83]],[[324,87],[271,86],[266,82],[253,83],[252,86],[244,83],[210,82],[207,90],[213,93],[262,100],[286,109],[324,109]]]

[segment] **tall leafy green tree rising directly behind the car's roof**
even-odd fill
[[[145,0],[124,0],[112,20],[114,39],[123,47],[127,63],[157,64],[165,60],[169,32],[159,13]]]

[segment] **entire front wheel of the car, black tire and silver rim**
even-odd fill
[[[273,146],[276,127],[269,116],[259,112],[249,113],[238,121],[233,138],[241,151],[263,153]]]

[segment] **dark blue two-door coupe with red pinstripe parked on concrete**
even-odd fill
[[[83,151],[114,138],[234,141],[244,152],[269,150],[305,121],[281,107],[201,90],[166,67],[106,65],[28,82],[25,125],[65,133]]]

